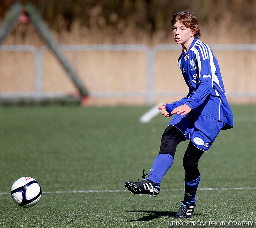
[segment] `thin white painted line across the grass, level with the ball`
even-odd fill
[[[252,190],[256,187],[241,187],[241,188],[198,188],[201,191],[213,190]],[[184,189],[161,189],[161,191],[184,191]],[[43,194],[64,194],[64,193],[103,193],[103,192],[127,192],[127,190],[74,190],[74,191],[55,191],[55,192],[42,192]],[[0,192],[0,195],[7,195],[10,192]]]

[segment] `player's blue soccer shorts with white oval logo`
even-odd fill
[[[174,115],[169,125],[177,127],[200,150],[208,151],[224,122],[192,111],[187,115]]]

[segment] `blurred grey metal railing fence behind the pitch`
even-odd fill
[[[176,44],[160,44],[153,48],[148,48],[147,46],[140,44],[115,44],[115,45],[62,45],[60,46],[62,51],[69,52],[88,52],[88,51],[123,51],[123,52],[142,52],[146,58],[146,91],[90,91],[91,97],[95,98],[106,98],[106,97],[144,97],[146,99],[147,105],[153,105],[155,103],[156,97],[161,96],[173,96],[177,95],[179,92],[161,92],[155,91],[155,62],[156,54],[165,51],[181,51],[181,47]],[[252,51],[256,54],[255,44],[211,44],[211,49],[213,51]],[[34,46],[29,45],[1,45],[1,52],[30,52],[33,54],[34,58],[34,92],[33,93],[5,93],[0,92],[1,98],[14,98],[14,97],[33,97],[33,98],[43,98],[43,97],[58,97],[61,96],[60,93],[46,94],[42,89],[43,83],[43,55],[48,50],[48,46],[43,46],[39,50]],[[254,80],[256,80],[256,72],[254,74]],[[184,95],[184,93],[182,92]],[[239,96],[239,97],[250,97],[256,98],[255,91],[228,91],[227,95]]]

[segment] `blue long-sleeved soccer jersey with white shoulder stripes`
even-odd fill
[[[186,104],[194,113],[224,122],[222,129],[232,128],[233,114],[227,102],[219,64],[208,45],[195,38],[187,53],[181,53],[178,65],[189,94],[180,101],[166,104],[167,111],[170,113]]]

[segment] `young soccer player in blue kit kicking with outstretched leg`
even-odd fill
[[[165,117],[173,114],[165,129],[160,152],[148,178],[127,181],[125,188],[133,194],[157,196],[160,182],[173,163],[176,147],[189,139],[183,158],[185,194],[176,219],[190,218],[195,210],[196,190],[201,178],[198,161],[210,148],[220,130],[233,127],[233,115],[227,102],[218,61],[207,44],[199,40],[200,28],[195,15],[180,11],[172,17],[174,40],[181,44],[178,65],[189,87],[187,97],[159,106]],[[144,173],[144,172],[143,172]]]

